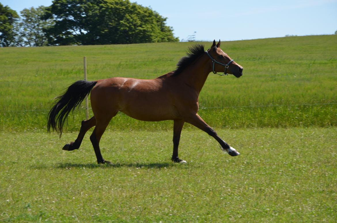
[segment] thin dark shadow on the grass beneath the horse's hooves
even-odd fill
[[[94,164],[94,163],[58,163],[57,168],[116,168],[116,167],[137,167],[137,168],[164,168],[173,166],[173,163],[113,163],[113,164]]]

